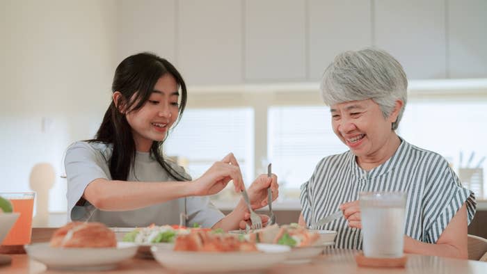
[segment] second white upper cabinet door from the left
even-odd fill
[[[178,2],[177,63],[186,83],[242,83],[242,2]]]

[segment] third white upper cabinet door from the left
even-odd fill
[[[305,80],[306,1],[245,3],[246,81]]]

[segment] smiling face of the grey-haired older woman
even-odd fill
[[[399,147],[400,140],[391,127],[401,106],[401,101],[397,101],[388,118],[384,118],[381,108],[372,99],[331,106],[333,131],[357,156],[362,168],[379,166]]]

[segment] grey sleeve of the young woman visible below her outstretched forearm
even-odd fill
[[[213,227],[225,215],[218,210],[207,196],[194,196],[186,198],[186,215],[188,226],[195,223],[202,227]]]

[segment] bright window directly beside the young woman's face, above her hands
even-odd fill
[[[164,144],[168,156],[187,161],[193,178],[233,152],[244,182],[254,177],[254,112],[252,108],[189,108]]]

